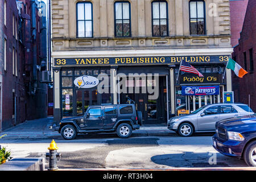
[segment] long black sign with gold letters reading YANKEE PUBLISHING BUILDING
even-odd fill
[[[214,56],[152,56],[152,57],[75,57],[55,58],[55,66],[82,66],[82,65],[154,65],[180,64],[181,60],[188,63],[226,63],[228,55]]]

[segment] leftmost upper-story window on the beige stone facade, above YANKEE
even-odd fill
[[[93,37],[93,10],[91,2],[76,4],[77,38]]]

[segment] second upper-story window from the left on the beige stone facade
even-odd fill
[[[126,1],[114,3],[115,36],[131,36],[130,3]]]

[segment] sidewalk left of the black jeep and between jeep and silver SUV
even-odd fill
[[[49,126],[53,123],[53,118],[42,118],[35,119],[30,121],[25,121],[11,127],[10,129],[6,129],[0,133],[1,139],[15,139],[15,138],[51,138],[60,136],[57,131],[49,130]],[[161,124],[148,124],[142,125],[139,130],[133,131],[133,137],[138,136],[148,136],[148,135],[156,135],[156,136],[168,136],[174,135],[174,131],[170,131],[167,129],[167,123]]]

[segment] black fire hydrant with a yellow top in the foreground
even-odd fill
[[[59,169],[57,167],[57,157],[61,157],[60,153],[57,153],[57,150],[59,148],[57,147],[54,140],[52,140],[50,146],[48,147],[49,153],[46,154],[46,157],[49,158],[49,171],[56,171]]]

